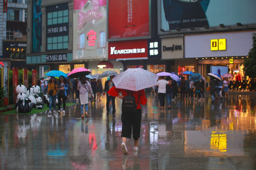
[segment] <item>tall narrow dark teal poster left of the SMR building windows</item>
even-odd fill
[[[40,52],[42,45],[41,0],[33,0],[32,52]]]

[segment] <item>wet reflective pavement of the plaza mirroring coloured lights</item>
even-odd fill
[[[256,170],[256,93],[230,99],[172,101],[160,110],[157,95],[142,106],[139,150],[128,139],[121,152],[121,101],[106,116],[106,98],[66,114],[1,114],[0,169],[3,170]],[[166,102],[165,102],[166,103]],[[167,107],[167,105],[166,105]],[[110,106],[111,110],[111,106]]]

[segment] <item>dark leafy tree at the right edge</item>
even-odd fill
[[[241,65],[244,65],[243,71],[245,76],[249,76],[250,78],[256,78],[256,33],[252,34],[253,39],[253,48],[250,49],[248,53],[248,58],[244,59],[241,62]]]

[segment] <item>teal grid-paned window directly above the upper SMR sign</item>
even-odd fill
[[[62,24],[68,22],[68,9],[49,12],[47,14],[47,25]]]

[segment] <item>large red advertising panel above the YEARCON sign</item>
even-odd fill
[[[108,39],[128,40],[149,37],[150,0],[109,0]]]

